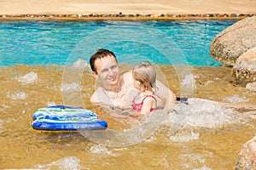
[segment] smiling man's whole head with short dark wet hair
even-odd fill
[[[108,49],[99,49],[90,57],[92,75],[105,88],[110,88],[119,82],[119,67],[113,52]]]

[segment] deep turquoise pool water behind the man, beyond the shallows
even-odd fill
[[[1,22],[0,66],[67,65],[88,61],[96,48],[113,50],[125,63],[215,66],[220,64],[209,54],[210,43],[235,22]]]

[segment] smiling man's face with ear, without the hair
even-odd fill
[[[113,56],[107,56],[95,61],[96,71],[92,75],[104,86],[115,85],[119,82],[119,67]]]

